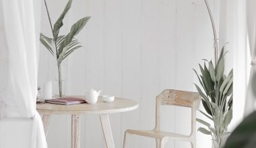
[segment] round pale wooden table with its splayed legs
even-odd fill
[[[81,96],[72,96],[81,98]],[[79,148],[80,145],[80,115],[81,114],[99,114],[102,131],[106,141],[106,147],[115,148],[111,126],[108,114],[116,112],[128,112],[138,108],[139,104],[134,100],[125,98],[115,98],[112,103],[106,103],[99,97],[96,104],[75,104],[75,105],[59,105],[59,104],[37,104],[36,110],[42,114],[42,122],[44,124],[44,133],[47,135],[51,114],[71,114],[71,147]]]

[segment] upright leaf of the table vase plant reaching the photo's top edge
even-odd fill
[[[53,37],[55,38],[55,40],[57,39],[57,37],[59,35],[59,30],[63,26],[63,19],[64,19],[65,15],[67,14],[67,12],[69,11],[69,9],[71,7],[71,4],[72,4],[72,0],[69,0],[67,2],[67,5],[66,5],[65,9],[63,10],[61,15],[59,16],[59,19],[54,24],[54,27],[53,27]]]

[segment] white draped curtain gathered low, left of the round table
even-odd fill
[[[31,147],[45,148],[36,111],[40,0],[0,0],[0,18],[0,117],[31,118]]]

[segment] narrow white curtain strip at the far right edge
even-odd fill
[[[253,112],[256,100],[256,1],[247,0],[247,31],[251,53],[251,71],[247,97],[245,101],[245,116]]]

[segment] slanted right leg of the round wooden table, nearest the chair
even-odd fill
[[[115,148],[108,114],[100,114],[100,122],[101,122],[102,131],[103,131],[105,142],[106,142],[106,147]]]

